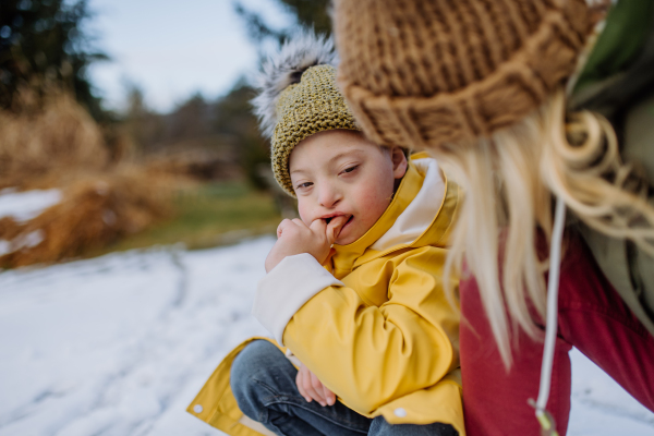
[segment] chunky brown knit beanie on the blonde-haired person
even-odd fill
[[[336,0],[339,84],[382,145],[463,145],[511,125],[572,74],[584,0]]]

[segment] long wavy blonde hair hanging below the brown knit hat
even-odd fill
[[[553,195],[589,227],[654,254],[654,207],[646,202],[646,183],[620,162],[605,118],[588,111],[566,114],[562,89],[491,138],[434,154],[464,190],[445,283],[465,257],[507,367],[510,329],[542,337],[530,307],[545,318],[548,262],[543,251],[538,257],[536,242],[542,232],[549,244]]]

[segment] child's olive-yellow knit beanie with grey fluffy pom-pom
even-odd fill
[[[268,59],[252,100],[263,134],[270,138],[277,183],[295,196],[289,158],[300,141],[323,131],[360,131],[336,85],[334,43],[303,32]]]

